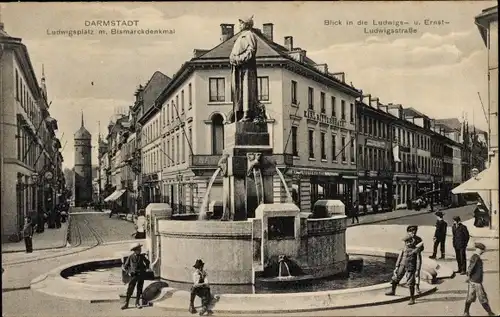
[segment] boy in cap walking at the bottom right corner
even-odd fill
[[[491,311],[488,295],[483,287],[484,268],[481,254],[484,253],[486,247],[482,243],[475,243],[474,247],[476,251],[471,256],[469,268],[467,269],[467,282],[469,285],[467,299],[465,300],[464,316],[470,316],[470,306],[476,299],[479,300],[479,303],[481,303],[481,306],[483,306],[484,310],[488,313],[488,316],[496,316],[495,313]]]

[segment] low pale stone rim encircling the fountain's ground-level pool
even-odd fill
[[[350,254],[358,255],[375,255],[375,256],[395,256],[392,250],[382,250],[382,249],[364,249],[364,248],[348,248]],[[87,263],[89,261],[108,261],[115,260],[115,258],[103,258],[103,259],[87,259],[70,264],[65,264],[59,266],[50,272],[43,274],[31,281],[30,287],[33,290],[37,290],[52,296],[67,297],[72,299],[80,299],[84,301],[89,301],[90,303],[101,303],[101,302],[118,302],[120,301],[119,294],[125,291],[126,286],[123,285],[91,285],[79,283],[76,281],[71,281],[63,278],[61,272],[71,266],[79,265],[82,263]],[[432,262],[432,260],[428,260]],[[434,262],[433,262],[434,263]],[[422,293],[420,296],[430,294],[436,290],[436,286],[428,284],[424,281],[421,283]],[[404,288],[404,286],[403,286]],[[393,302],[399,302],[407,300],[408,296],[396,296],[396,297],[386,297],[384,292],[389,289],[388,283],[381,283],[376,285],[370,285],[360,288],[352,288],[345,290],[333,290],[333,291],[320,291],[320,292],[306,292],[306,293],[288,293],[288,294],[223,294],[220,298],[224,302],[218,303],[215,308],[217,312],[226,313],[273,313],[273,312],[302,312],[302,311],[316,311],[316,310],[327,310],[327,309],[340,309],[340,308],[353,308],[361,307],[367,305],[381,305]],[[356,302],[351,302],[353,293],[365,293],[365,300],[359,301],[356,298]],[[185,310],[186,303],[189,299],[189,292],[181,291],[174,288],[165,288],[162,290],[162,296],[153,301],[153,305],[166,308],[169,310]],[[275,301],[291,301],[300,303],[298,307],[293,309],[283,310],[281,306],[279,309],[273,307]],[[262,302],[262,305],[258,303]],[[232,307],[239,307],[241,305],[236,305],[237,302],[246,302],[249,306],[248,309],[243,310],[233,310]],[[267,308],[263,308],[266,306]],[[343,303],[343,304],[338,304]],[[300,305],[304,305],[300,307]],[[259,307],[259,310],[254,310],[253,307]]]

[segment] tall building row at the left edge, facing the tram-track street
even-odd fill
[[[60,142],[47,100],[43,66],[39,85],[27,47],[0,22],[2,237],[17,236],[26,216],[41,223],[60,191]]]

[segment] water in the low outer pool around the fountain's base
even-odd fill
[[[268,294],[268,293],[299,293],[328,290],[342,290],[386,283],[390,280],[396,259],[377,256],[363,256],[364,266],[361,272],[351,272],[349,276],[331,276],[312,279],[308,275],[292,278],[262,278],[256,285],[211,285],[215,294]],[[208,271],[210,274],[210,270]],[[108,285],[123,285],[121,266],[106,265],[101,268],[74,271],[64,276],[74,282],[84,284],[107,283]],[[269,283],[280,280],[284,283]],[[267,281],[267,283],[266,283]],[[189,291],[191,284],[168,281],[170,287]]]

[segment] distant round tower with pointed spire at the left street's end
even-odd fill
[[[74,135],[75,167],[73,197],[75,206],[81,207],[92,201],[92,135],[83,122]]]

